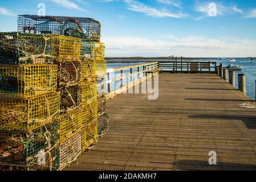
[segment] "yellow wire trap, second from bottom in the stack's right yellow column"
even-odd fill
[[[95,119],[97,119],[97,97],[94,97],[90,104],[83,107],[83,125],[88,125]]]

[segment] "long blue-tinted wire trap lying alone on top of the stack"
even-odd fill
[[[100,22],[92,18],[18,15],[18,31],[34,34],[60,34],[100,40]]]

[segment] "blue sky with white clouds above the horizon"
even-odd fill
[[[255,0],[1,0],[0,31],[39,3],[46,15],[99,20],[106,56],[256,56]]]

